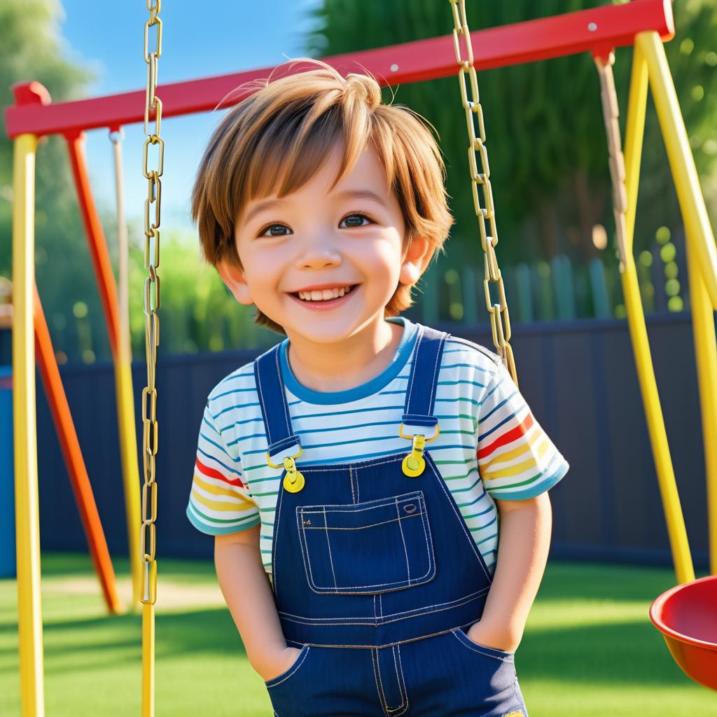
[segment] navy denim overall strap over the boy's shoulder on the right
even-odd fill
[[[445,331],[437,331],[430,326],[418,324],[416,348],[402,418],[404,428],[414,433],[420,432],[421,428],[431,428],[438,422],[433,415],[433,409],[441,356],[449,336],[450,333]]]

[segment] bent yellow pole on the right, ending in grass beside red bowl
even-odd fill
[[[660,394],[657,392],[655,369],[652,366],[652,356],[650,354],[650,342],[647,340],[647,326],[645,326],[645,313],[642,310],[635,258],[632,255],[637,187],[640,181],[642,138],[645,133],[645,106],[647,103],[647,65],[645,64],[645,57],[637,45],[635,46],[635,54],[632,56],[632,63],[630,101],[627,108],[625,131],[625,189],[627,191],[625,246],[627,247],[627,252],[620,278],[622,280],[622,291],[625,295],[627,325],[630,328],[632,351],[635,353],[637,378],[640,381],[642,403],[645,407],[647,432],[650,435],[657,484],[660,488],[660,498],[665,512],[670,550],[672,551],[675,565],[675,576],[678,583],[685,583],[695,579],[695,571],[692,556],[690,555],[685,518],[680,505],[680,495],[675,482],[675,470],[670,457],[665,419],[660,406]]]

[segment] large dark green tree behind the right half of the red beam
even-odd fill
[[[597,0],[474,1],[471,30],[587,9]],[[698,171],[707,179],[717,160],[711,129],[717,103],[717,6],[708,0],[676,0],[676,39],[666,45]],[[325,0],[315,9],[317,29],[308,39],[318,55],[447,35],[447,0],[380,3]],[[356,28],[361,27],[361,32]],[[478,49],[476,49],[478,51]],[[618,49],[615,77],[624,128],[632,48]],[[395,103],[424,115],[437,129],[448,166],[447,187],[456,217],[449,263],[476,261],[478,224],[467,176],[465,118],[457,77],[399,87]],[[612,227],[607,146],[599,80],[588,54],[478,72],[485,115],[491,182],[501,239],[499,259],[508,263],[568,253],[588,260],[597,250],[592,227]],[[394,90],[395,91],[395,90]],[[392,92],[384,90],[384,100]],[[643,153],[636,249],[650,244],[660,224],[679,222],[672,179],[653,112],[648,113]]]

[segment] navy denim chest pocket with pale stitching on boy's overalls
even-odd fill
[[[314,592],[375,594],[435,577],[422,490],[365,503],[300,505],[296,521]]]

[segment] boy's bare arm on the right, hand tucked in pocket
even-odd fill
[[[495,500],[500,513],[498,562],[483,617],[470,627],[472,640],[516,650],[538,594],[550,548],[552,511],[547,491],[527,500]]]

